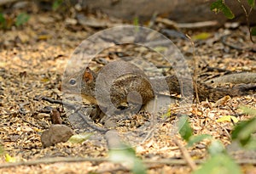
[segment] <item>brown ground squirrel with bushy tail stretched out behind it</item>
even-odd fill
[[[99,81],[98,84],[96,79]],[[186,80],[183,79],[183,81]],[[166,76],[166,84],[171,94],[180,94],[181,87],[177,76]],[[147,104],[149,100],[154,98],[155,91],[164,86],[160,78],[156,77],[149,80],[143,70],[123,60],[109,63],[98,72],[94,72],[87,67],[85,70],[69,76],[63,81],[63,85],[68,93],[79,93],[93,104],[104,105],[104,103],[108,103],[109,101],[104,99],[106,98],[104,95],[109,95],[112,104],[116,108],[122,107],[129,102]],[[96,85],[98,86],[96,87]],[[189,89],[195,95],[193,84]],[[230,95],[230,97],[245,95],[250,90],[255,89],[256,85],[211,87],[200,81],[197,82],[197,92],[201,101],[206,99],[216,101],[225,95]],[[130,96],[128,95],[129,93],[131,93]],[[100,102],[98,98],[96,99],[96,95],[100,98]],[[127,96],[130,101],[127,101]]]

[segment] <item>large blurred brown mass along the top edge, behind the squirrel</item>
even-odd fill
[[[169,18],[178,23],[201,22],[207,20],[218,20],[219,25],[223,25],[227,19],[224,14],[215,14],[211,11],[210,6],[216,0],[87,0],[83,1],[82,8],[91,10],[101,10],[115,18],[133,21],[136,17],[139,21],[148,21],[154,13],[161,17]],[[245,14],[239,3],[233,0],[226,0],[225,3],[233,13],[236,19],[231,21],[239,21],[246,23]],[[245,8],[248,8],[247,0],[241,0]],[[250,21],[256,22],[256,10],[252,11]]]

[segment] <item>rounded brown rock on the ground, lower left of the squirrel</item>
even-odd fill
[[[41,143],[44,148],[55,145],[56,143],[67,142],[73,136],[73,130],[65,125],[51,125],[49,130],[42,133]]]

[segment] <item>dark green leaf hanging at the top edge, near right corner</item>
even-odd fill
[[[211,4],[211,10],[214,11],[216,14],[221,11],[230,20],[235,18],[235,15],[230,10],[230,8],[226,6],[223,0],[217,0],[216,2],[213,2]]]

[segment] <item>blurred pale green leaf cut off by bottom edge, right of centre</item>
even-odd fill
[[[218,154],[212,156],[201,168],[194,171],[193,174],[241,174],[240,167],[227,154]]]

